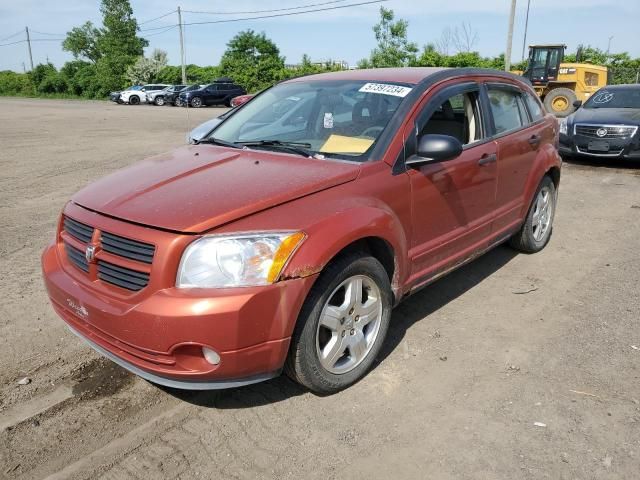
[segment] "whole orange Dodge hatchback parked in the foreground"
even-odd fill
[[[509,73],[296,78],[74,195],[44,280],[72,332],[151,382],[284,370],[336,392],[371,368],[408,295],[502,242],[545,247],[557,142]]]

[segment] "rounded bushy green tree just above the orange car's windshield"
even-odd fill
[[[262,33],[246,30],[227,43],[220,72],[247,91],[255,92],[282,79],[284,57],[273,41]]]

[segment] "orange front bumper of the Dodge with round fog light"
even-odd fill
[[[88,280],[55,242],[42,255],[42,269],[53,308],[74,333],[127,370],[184,389],[228,388],[277,375],[315,280],[217,290],[154,289],[152,282],[122,295],[116,286]],[[220,362],[208,363],[202,347],[216,351]]]

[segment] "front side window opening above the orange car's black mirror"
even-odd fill
[[[478,98],[478,90],[451,95],[436,107],[425,122],[418,123],[418,137],[431,134],[449,135],[460,140],[463,145],[482,140]]]

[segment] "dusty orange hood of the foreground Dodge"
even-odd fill
[[[72,201],[141,225],[202,233],[349,182],[359,171],[355,163],[192,145],[104,177]]]

